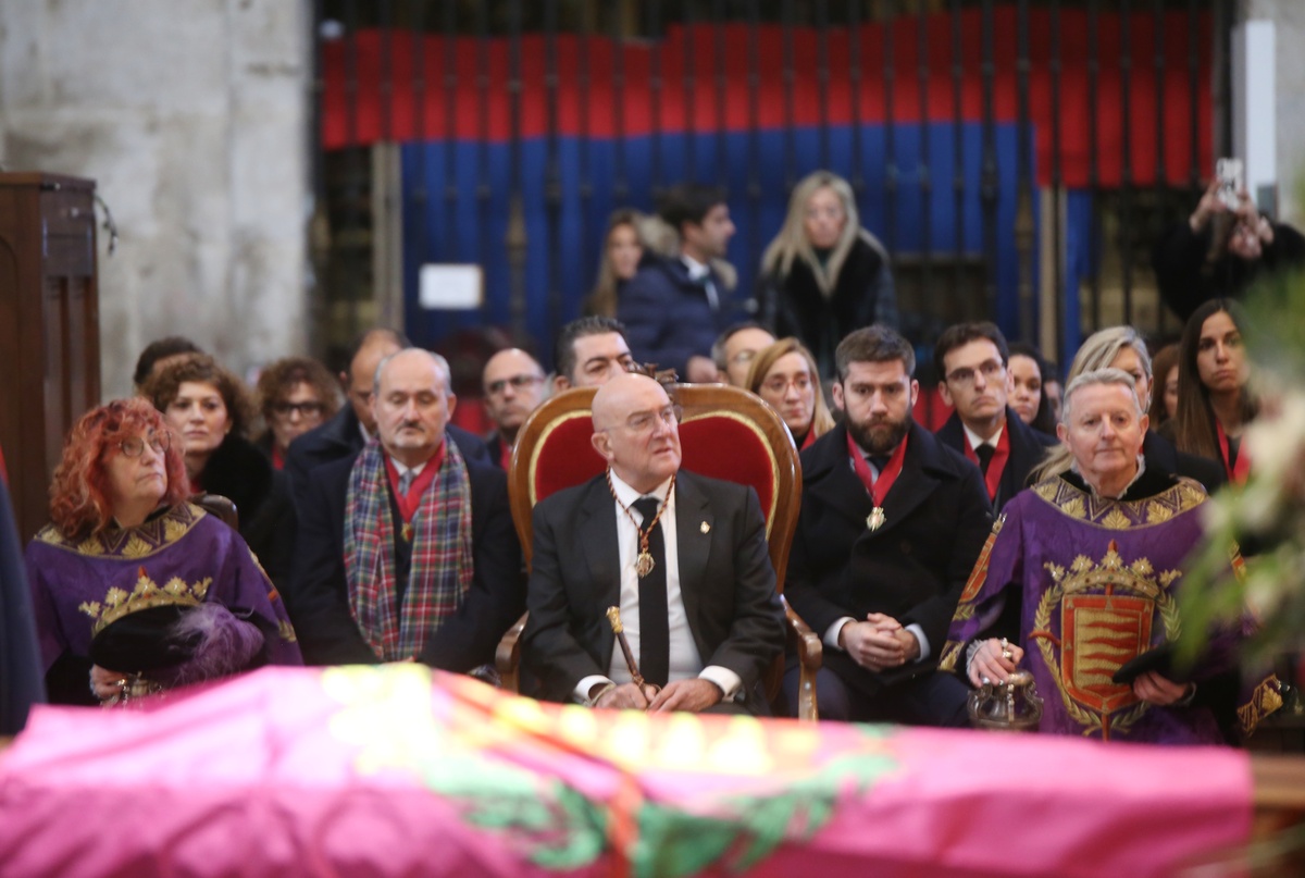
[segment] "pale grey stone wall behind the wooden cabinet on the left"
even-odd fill
[[[239,372],[303,353],[311,9],[4,0],[0,163],[97,180],[104,396],[150,340]]]

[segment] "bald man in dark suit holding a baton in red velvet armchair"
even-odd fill
[[[784,628],[756,491],[680,469],[679,412],[651,378],[617,375],[592,413],[608,469],[535,507],[522,666],[549,700],[766,715]]]

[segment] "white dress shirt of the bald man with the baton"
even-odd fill
[[[621,625],[625,627],[625,640],[630,644],[630,652],[636,661],[639,656],[639,576],[634,571],[634,563],[639,554],[639,528],[630,521],[630,515],[641,519],[634,508],[634,502],[641,496],[655,496],[664,500],[671,489],[671,480],[656,486],[649,494],[639,494],[633,487],[621,481],[621,477],[612,473],[612,487],[616,490],[617,500],[612,503],[612,512],[616,515],[616,544],[621,570]],[[626,515],[621,504],[630,510]],[[639,521],[642,527],[642,520]],[[743,687],[743,678],[728,668],[720,665],[702,666],[702,657],[698,647],[693,642],[693,631],[689,628],[689,617],[684,609],[684,597],[680,593],[680,553],[679,540],[675,529],[675,495],[666,504],[662,517],[658,521],[666,542],[666,606],[667,622],[671,634],[669,673],[668,681],[689,679],[701,677],[710,679],[724,692],[724,700],[733,698]],[[630,670],[625,666],[625,656],[621,645],[612,642],[612,657],[608,660],[607,677],[598,674],[585,677],[577,683],[573,692],[577,702],[589,700],[590,690],[598,683],[629,683]]]

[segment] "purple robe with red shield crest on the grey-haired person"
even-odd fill
[[[1210,708],[1150,706],[1111,681],[1130,658],[1177,638],[1182,562],[1202,538],[1206,499],[1184,481],[1137,500],[1094,496],[1060,477],[1021,493],[962,593],[941,666],[963,669],[966,645],[992,636],[1005,602],[1019,601],[1021,668],[1043,698],[1041,732],[1223,743]],[[1224,658],[1194,670],[1198,687],[1229,670],[1227,645]]]

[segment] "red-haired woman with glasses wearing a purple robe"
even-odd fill
[[[300,664],[284,608],[245,542],[185,502],[181,457],[163,417],[140,398],[94,409],[69,434],[51,524],[26,551],[51,702],[119,696],[129,669],[93,666],[91,640],[163,605],[184,610],[184,626],[168,638],[185,644],[189,658],[151,674],[158,683]]]

